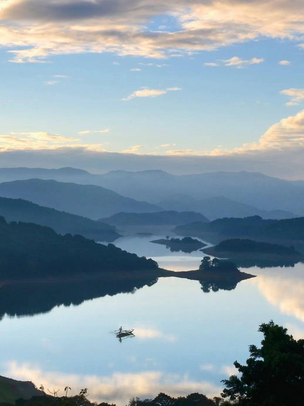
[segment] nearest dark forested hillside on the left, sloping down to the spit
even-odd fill
[[[82,235],[58,235],[33,223],[7,223],[0,216],[0,280],[157,268],[152,259],[113,244],[97,244]]]

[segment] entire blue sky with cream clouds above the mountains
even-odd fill
[[[0,166],[304,179],[303,55],[302,0],[0,0]]]

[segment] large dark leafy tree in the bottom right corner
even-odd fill
[[[249,346],[246,365],[235,361],[240,378],[224,382],[222,396],[248,406],[300,406],[304,399],[304,340],[296,341],[287,328],[261,324],[261,348]]]

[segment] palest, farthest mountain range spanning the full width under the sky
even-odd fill
[[[123,196],[151,203],[171,199],[172,194],[180,193],[197,200],[223,196],[260,210],[283,210],[304,215],[304,181],[287,181],[262,173],[242,171],[171,175],[164,171],[119,170],[94,175],[74,168],[0,169],[0,181],[33,177],[102,186]]]

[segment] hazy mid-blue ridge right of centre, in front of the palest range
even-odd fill
[[[191,210],[193,212],[204,214],[210,220],[223,217],[248,217],[261,216],[262,218],[281,218],[298,217],[285,210],[260,210],[252,205],[237,202],[224,196],[210,197],[208,199],[198,200],[186,194],[173,194],[169,199],[158,203],[159,206],[167,210]]]

